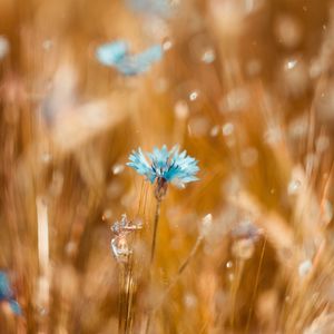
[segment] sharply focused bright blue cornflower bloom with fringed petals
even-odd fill
[[[146,159],[141,149],[134,150],[129,156],[129,167],[137,170],[138,174],[154,183],[156,179],[171,183],[183,187],[185,184],[195,181],[195,176],[199,170],[197,160],[187,156],[184,150],[179,153],[177,146],[168,150],[166,145],[161,149],[154,148],[153,153],[147,153],[150,163]]]

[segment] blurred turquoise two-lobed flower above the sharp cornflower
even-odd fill
[[[149,70],[151,65],[163,58],[160,45],[153,46],[145,51],[130,55],[126,41],[114,41],[97,48],[96,57],[105,66],[116,68],[125,76],[136,76]]]

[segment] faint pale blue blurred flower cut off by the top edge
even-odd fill
[[[157,14],[168,18],[171,14],[170,0],[126,0],[126,4],[134,11]]]

